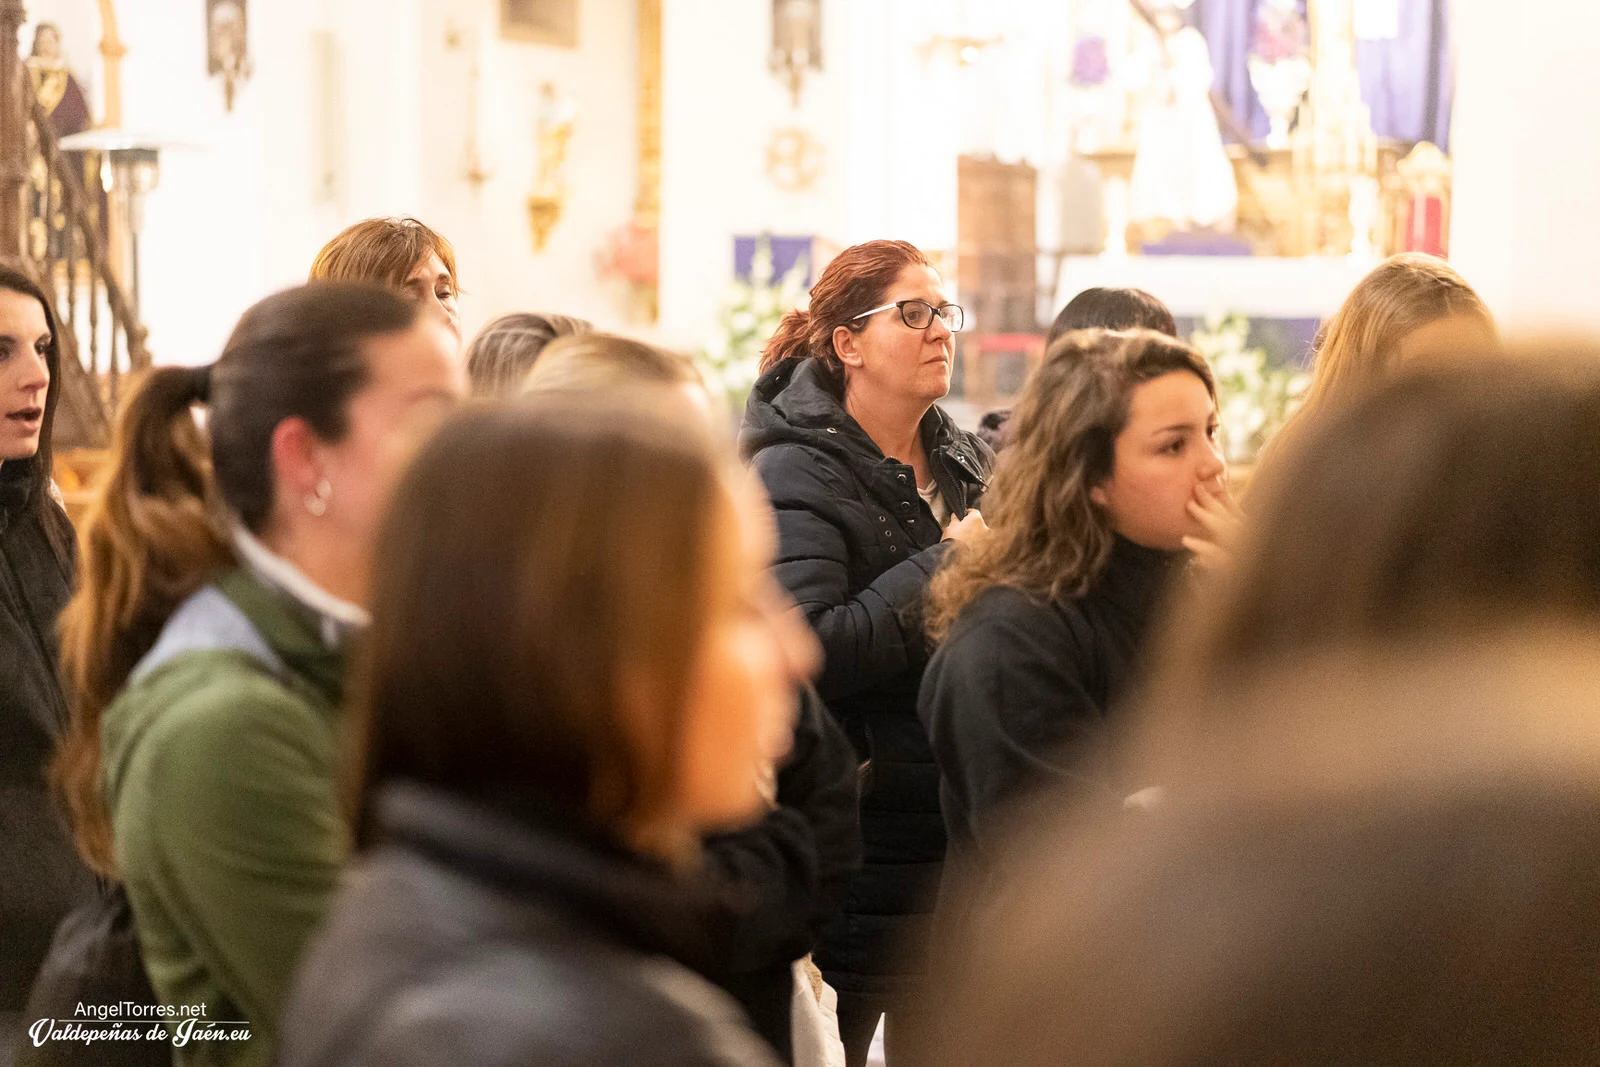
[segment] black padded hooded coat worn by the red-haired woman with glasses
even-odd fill
[[[965,515],[994,454],[939,408],[922,442],[941,496]],[[778,579],[822,641],[818,689],[866,763],[864,865],[816,961],[842,992],[914,992],[944,861],[939,774],[917,720],[922,601],[941,531],[910,466],[883,456],[810,360],[757,381],[739,446],[778,514]]]

